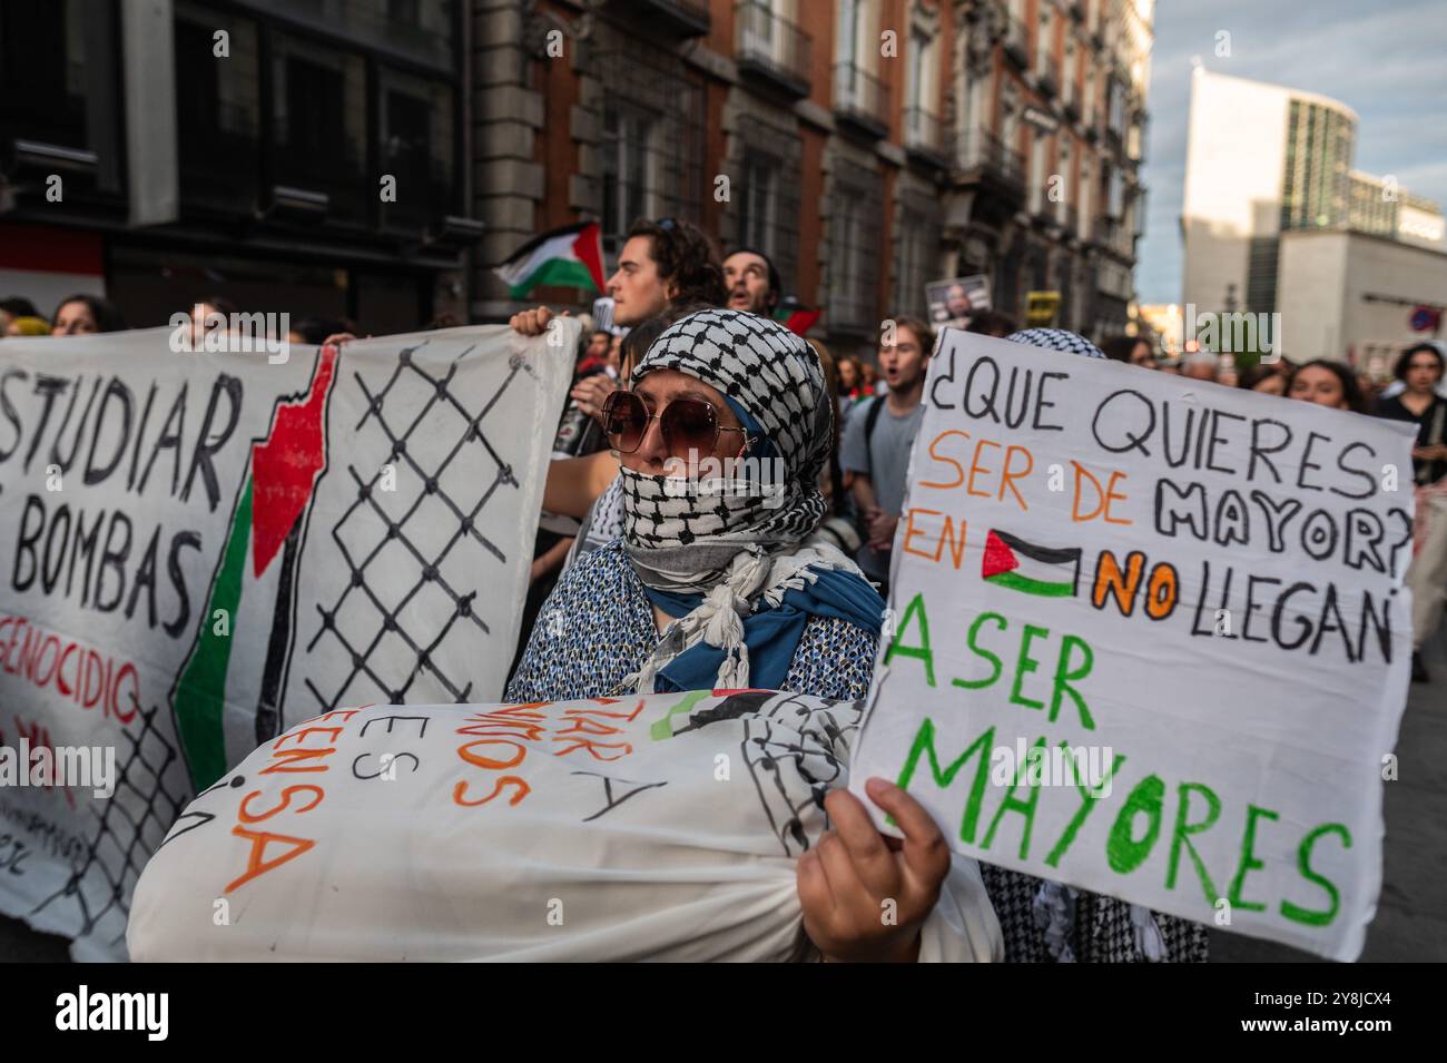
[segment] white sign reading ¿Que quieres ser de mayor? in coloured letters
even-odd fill
[[[925,404],[854,778],[961,853],[1356,957],[1411,427],[956,331]]]

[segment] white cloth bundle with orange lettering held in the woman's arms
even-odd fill
[[[200,793],[136,888],[137,960],[786,960],[796,859],[862,706],[773,691],[369,706]],[[956,861],[922,960],[1000,930]]]

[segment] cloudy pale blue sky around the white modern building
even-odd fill
[[[1158,0],[1143,179],[1142,302],[1181,299],[1191,58],[1220,74],[1321,93],[1360,123],[1356,168],[1447,204],[1447,0]],[[1220,58],[1217,33],[1230,33]],[[1244,163],[1246,161],[1243,161]]]

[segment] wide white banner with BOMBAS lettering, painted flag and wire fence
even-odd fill
[[[0,910],[120,956],[146,859],[259,742],[359,700],[502,693],[563,328],[285,359],[6,340],[0,740],[25,756],[0,755]],[[77,749],[114,765],[110,795],[33,771]]]

